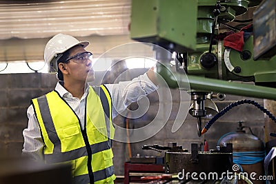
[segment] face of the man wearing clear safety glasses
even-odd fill
[[[82,46],[77,46],[70,50],[69,57],[87,52]],[[84,54],[86,56],[86,54]],[[84,60],[84,63],[79,63],[78,57],[74,57],[66,63],[68,76],[72,81],[86,82],[94,81],[94,70],[92,70],[92,61],[90,59]]]

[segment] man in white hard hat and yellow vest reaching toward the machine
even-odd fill
[[[148,70],[128,82],[87,85],[94,79],[88,44],[66,34],[46,44],[45,61],[59,82],[54,91],[32,99],[22,152],[46,163],[70,163],[75,183],[113,183],[112,118],[157,89],[155,74]]]

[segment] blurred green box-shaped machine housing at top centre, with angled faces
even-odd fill
[[[130,37],[177,52],[195,50],[197,1],[132,1]]]

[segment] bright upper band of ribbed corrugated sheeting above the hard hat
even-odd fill
[[[0,39],[128,34],[130,0],[0,3]]]

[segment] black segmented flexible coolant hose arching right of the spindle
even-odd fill
[[[221,112],[217,113],[213,119],[211,119],[204,127],[204,129],[206,129],[206,131],[210,128],[211,125],[213,125],[213,123],[215,123],[215,121],[217,121],[217,119],[219,119],[221,116],[223,116],[226,112],[228,112],[230,109],[235,108],[237,105],[242,105],[244,103],[248,103],[248,104],[252,104],[255,105],[257,108],[259,108],[260,110],[262,110],[262,112],[264,112],[266,115],[268,115],[268,117],[270,119],[272,119],[273,121],[275,121],[276,123],[276,118],[275,116],[273,116],[273,114],[271,114],[266,108],[264,108],[262,105],[259,105],[259,103],[255,102],[255,101],[251,101],[251,100],[242,100],[242,101],[236,101],[234,103],[231,103],[230,105],[228,105],[226,108],[224,108],[223,110],[221,110]]]

